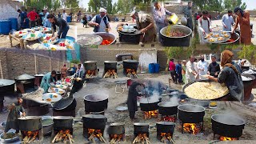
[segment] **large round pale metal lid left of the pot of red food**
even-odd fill
[[[96,34],[82,34],[78,35],[78,44],[82,46],[92,46],[102,44],[103,38]]]

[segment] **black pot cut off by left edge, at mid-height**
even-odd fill
[[[0,78],[0,95],[14,94],[15,81]]]

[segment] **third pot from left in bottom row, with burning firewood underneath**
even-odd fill
[[[82,117],[82,121],[83,136],[86,139],[94,143],[96,140],[98,140],[98,142],[106,143],[106,140],[103,138],[103,134],[106,127],[107,119],[104,115],[86,114]]]

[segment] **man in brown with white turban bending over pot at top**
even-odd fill
[[[135,10],[130,14],[130,17],[136,19],[138,30],[142,32],[139,45],[143,45],[144,42],[154,42],[157,31],[154,27],[153,18],[149,14],[138,14]]]

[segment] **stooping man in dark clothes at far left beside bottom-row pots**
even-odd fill
[[[23,117],[26,116],[25,110],[22,106],[22,98],[18,98],[17,103],[13,103],[11,106],[9,106],[10,113],[8,114],[7,121],[6,121],[6,127],[4,131],[4,138],[7,137],[7,132],[10,129],[16,130],[15,133],[18,135],[19,128],[18,128],[18,118],[22,115]]]

